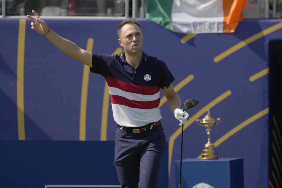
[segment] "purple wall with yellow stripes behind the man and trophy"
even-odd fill
[[[120,19],[44,20],[53,31],[81,48],[86,49],[88,38],[93,38],[93,53],[112,54],[120,48],[116,33]],[[282,26],[276,25],[282,20],[244,20],[235,33],[198,34],[185,43],[181,42],[185,34],[167,31],[145,19],[139,21],[145,53],[167,64],[175,77],[174,87],[193,75],[177,92],[182,102],[190,98],[200,100],[196,108],[187,111],[189,118],[203,118],[207,108],[213,118],[221,118],[211,132],[211,141],[220,143],[216,147],[219,157],[243,157],[245,187],[267,187],[268,74],[254,81],[249,79],[268,68],[268,42],[282,38]],[[3,18],[0,25],[0,139],[18,140],[19,19]],[[251,43],[243,43],[243,47],[214,62],[219,54],[267,28],[271,29],[269,34],[251,38]],[[79,140],[83,64],[31,30],[29,20],[25,31],[25,140]],[[101,75],[90,73],[85,131],[88,141],[101,139],[104,85]],[[221,96],[224,93],[226,97]],[[180,159],[181,130],[167,103],[160,109],[169,141],[169,187],[174,187],[178,181],[174,178],[174,161]],[[110,103],[107,120],[107,140],[112,141],[116,123]],[[232,131],[235,127],[238,131]],[[207,134],[194,120],[185,128],[183,159],[197,158],[207,142]],[[222,138],[229,131],[226,139]]]

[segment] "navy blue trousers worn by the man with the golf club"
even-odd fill
[[[162,125],[148,132],[116,130],[115,167],[122,188],[155,188],[165,150]]]

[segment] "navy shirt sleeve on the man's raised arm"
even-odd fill
[[[92,54],[92,68],[90,67],[91,73],[97,73],[106,77],[108,67],[113,61],[113,56],[105,54]]]

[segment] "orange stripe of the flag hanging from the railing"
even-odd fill
[[[222,0],[223,8],[223,32],[233,33],[239,23],[243,20],[241,11],[247,0]]]

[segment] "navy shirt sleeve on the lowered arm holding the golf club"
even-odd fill
[[[162,60],[159,60],[158,63],[158,73],[160,76],[160,83],[159,83],[160,88],[165,89],[173,82],[174,77],[172,73],[169,71],[169,69],[167,68],[167,65]]]

